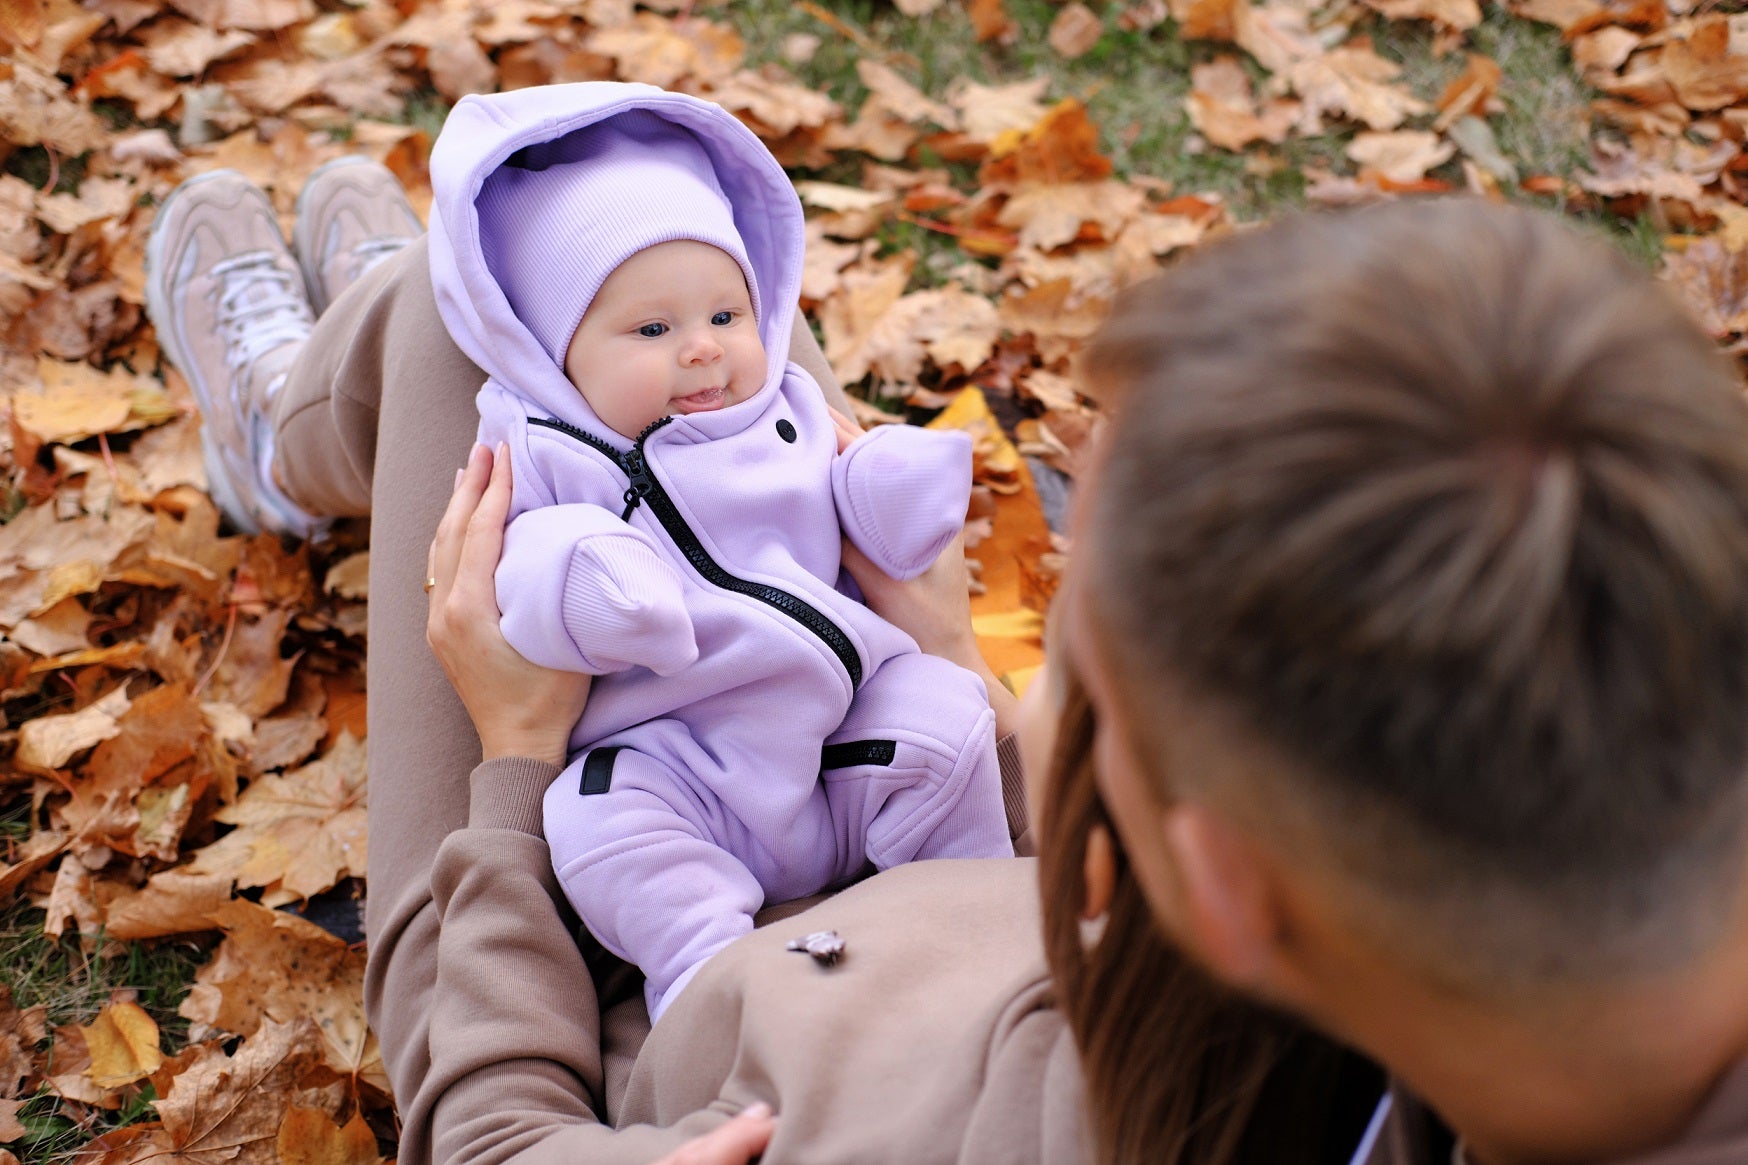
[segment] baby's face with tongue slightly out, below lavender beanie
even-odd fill
[[[565,376],[622,437],[669,413],[713,413],[753,395],[766,353],[741,264],[692,240],[631,255],[577,325]]]

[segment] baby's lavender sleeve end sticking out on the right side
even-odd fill
[[[832,462],[844,534],[876,567],[914,579],[965,527],[972,439],[916,425],[881,425]]]

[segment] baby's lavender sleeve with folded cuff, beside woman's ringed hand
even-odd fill
[[[678,572],[645,534],[600,506],[544,506],[512,518],[496,586],[503,638],[531,663],[671,675],[697,659]]]

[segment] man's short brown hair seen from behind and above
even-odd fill
[[[1659,287],[1550,215],[1302,215],[1133,290],[1087,369],[1119,404],[1082,553],[1140,731],[1166,680],[1232,712],[1463,981],[1715,931],[1748,408]]]

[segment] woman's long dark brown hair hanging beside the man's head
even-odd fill
[[[1052,665],[1052,670],[1056,665]],[[1096,1160],[1112,1165],[1311,1165],[1346,1160],[1381,1076],[1353,1053],[1232,995],[1154,927],[1124,862],[1086,943],[1086,850],[1115,829],[1092,778],[1092,712],[1068,677],[1040,812],[1044,950],[1080,1048]],[[1355,1092],[1342,1106],[1344,1092]]]

